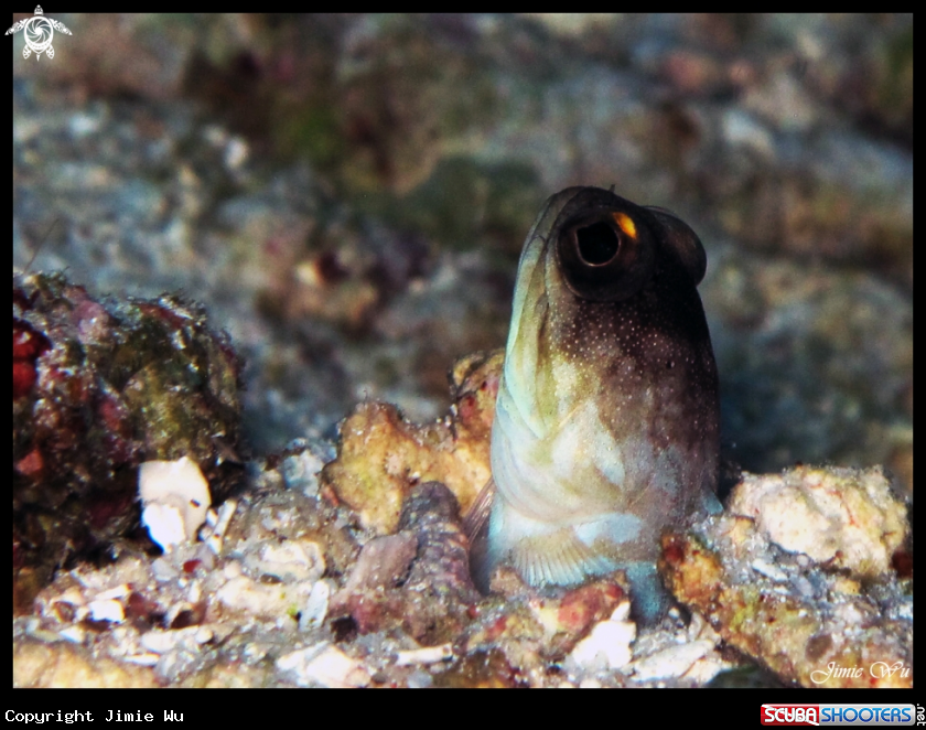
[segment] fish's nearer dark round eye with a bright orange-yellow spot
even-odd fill
[[[556,247],[567,287],[592,301],[635,294],[653,275],[654,241],[622,211],[597,208],[567,221]]]

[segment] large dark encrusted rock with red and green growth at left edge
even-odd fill
[[[227,496],[239,375],[197,305],[98,301],[62,275],[13,276],[14,605],[63,560],[138,525],[143,461],[189,457]]]

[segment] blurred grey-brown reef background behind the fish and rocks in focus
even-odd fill
[[[80,15],[13,53],[13,267],[203,304],[252,454],[443,414],[542,201],[701,236],[726,457],[913,485],[912,15]],[[13,21],[28,15],[13,15]]]

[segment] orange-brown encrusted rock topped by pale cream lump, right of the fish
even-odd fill
[[[660,570],[676,597],[785,681],[912,686],[912,589],[883,558],[885,541],[903,539],[903,507],[880,472],[801,469],[746,477],[736,490],[737,508],[761,505],[761,516],[728,513],[664,536]],[[786,494],[798,505],[790,528],[777,512]],[[890,530],[885,515],[898,523]],[[766,524],[788,550],[769,541]],[[865,580],[847,578],[849,569]]]

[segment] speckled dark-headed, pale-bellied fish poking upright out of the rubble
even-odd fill
[[[496,495],[476,584],[510,562],[534,586],[627,570],[664,603],[664,527],[717,511],[717,365],[698,236],[597,187],[551,196],[518,265],[492,430]]]

